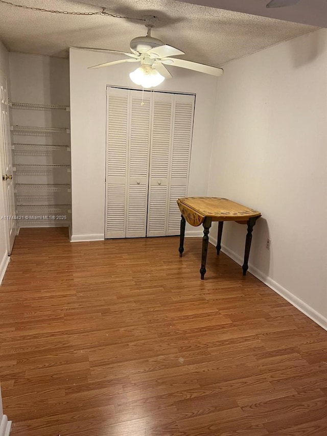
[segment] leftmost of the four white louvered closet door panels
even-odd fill
[[[105,238],[125,238],[129,91],[107,88]]]

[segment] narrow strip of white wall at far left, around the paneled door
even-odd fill
[[[7,87],[10,96],[10,82],[9,82],[9,53],[5,45],[0,41],[0,70],[7,77]],[[0,169],[2,171],[2,163],[0,156]],[[2,174],[1,174],[2,175]],[[2,183],[2,181],[1,181]],[[5,204],[4,204],[4,192],[3,188],[0,189],[0,217],[5,215]],[[5,221],[0,219],[0,284],[4,277],[7,265],[9,262],[7,245],[6,245],[6,232],[5,232]]]

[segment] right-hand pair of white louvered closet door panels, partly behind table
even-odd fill
[[[195,96],[153,93],[147,236],[179,235],[188,189]]]

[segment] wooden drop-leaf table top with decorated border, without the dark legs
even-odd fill
[[[261,217],[261,213],[247,206],[219,197],[183,197],[177,200],[178,207],[186,221],[200,225],[205,217],[212,221],[247,221]],[[184,215],[189,215],[189,219]]]

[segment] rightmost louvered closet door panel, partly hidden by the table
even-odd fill
[[[166,230],[166,235],[168,236],[179,235],[180,211],[176,201],[179,197],[186,197],[188,191],[194,104],[195,96],[174,95]]]

